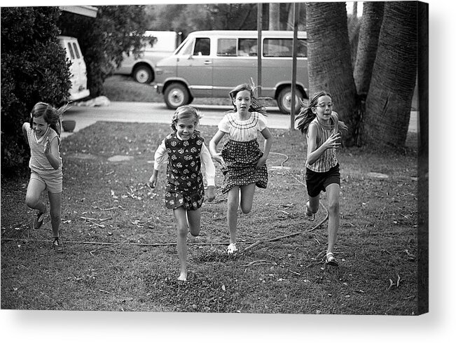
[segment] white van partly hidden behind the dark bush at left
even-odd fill
[[[69,90],[69,100],[75,101],[83,99],[90,95],[90,90],[87,88],[87,69],[84,62],[81,48],[79,48],[78,40],[69,36],[58,36],[60,45],[67,52],[67,59],[71,62],[69,72],[71,73],[71,89]]]

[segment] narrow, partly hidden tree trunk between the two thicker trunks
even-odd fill
[[[353,77],[354,83],[357,85],[358,94],[364,95],[364,97],[366,97],[371,83],[384,6],[385,2],[383,1],[366,1],[363,5]]]

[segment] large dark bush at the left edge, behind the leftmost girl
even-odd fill
[[[36,102],[69,97],[69,65],[58,42],[58,7],[1,8],[1,174],[24,171],[29,149],[22,123]]]

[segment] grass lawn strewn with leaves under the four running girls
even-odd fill
[[[324,207],[315,222],[303,212],[303,137],[271,130],[268,188],[257,189],[253,211],[240,215],[240,253],[226,255],[226,196],[217,188],[216,200],[203,204],[200,237],[188,237],[188,282],[178,283],[165,173],[155,190],[146,186],[169,130],[96,123],[64,139],[62,254],[50,248],[49,218],[29,229],[29,175],[2,177],[1,309],[417,314],[415,148],[339,151],[341,264],[325,267]],[[201,132],[208,143],[216,127]],[[416,134],[408,144],[416,146]]]

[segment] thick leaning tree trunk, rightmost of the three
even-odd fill
[[[417,76],[417,1],[386,1],[362,139],[403,147]]]

